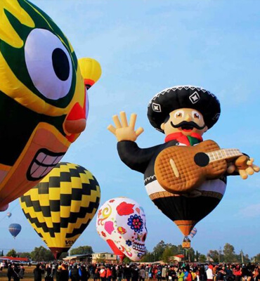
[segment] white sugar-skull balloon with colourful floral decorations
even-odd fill
[[[96,230],[121,260],[127,256],[140,261],[145,254],[145,213],[134,200],[118,197],[105,202],[98,211]]]

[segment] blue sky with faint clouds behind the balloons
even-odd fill
[[[136,112],[144,133],[141,148],[164,142],[146,116],[150,99],[162,89],[193,84],[212,91],[221,102],[219,122],[204,134],[222,148],[239,148],[260,164],[260,2],[183,0],[34,0],[70,40],[77,57],[100,62],[102,77],[89,90],[87,127],[63,161],[89,169],[98,179],[101,204],[112,197],[130,197],[145,209],[148,250],[164,240],[181,244],[182,234],[150,201],[143,175],[119,159],[116,140],[106,128],[112,115]],[[25,219],[18,200],[11,218],[0,214],[0,250],[32,250],[45,245]],[[228,178],[223,200],[197,223],[194,249],[207,254],[228,242],[254,256],[260,252],[260,177]],[[9,223],[22,231],[13,240]],[[94,251],[109,247],[96,233],[96,216],[73,247]],[[158,228],[158,226],[160,226]]]

